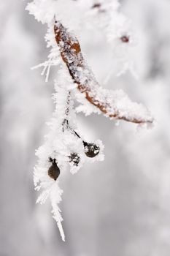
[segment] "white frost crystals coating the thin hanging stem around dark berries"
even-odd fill
[[[55,102],[55,112],[50,121],[50,132],[45,136],[45,143],[36,151],[36,156],[39,158],[37,165],[34,168],[34,185],[36,190],[42,190],[36,203],[45,203],[47,198],[50,198],[52,206],[53,218],[58,224],[58,229],[61,233],[61,238],[65,241],[63,227],[61,222],[61,210],[58,203],[61,202],[62,190],[58,185],[58,181],[48,175],[48,170],[52,163],[50,159],[56,159],[57,165],[62,176],[66,175],[66,170],[72,174],[77,173],[85,161],[102,161],[104,146],[101,141],[96,141],[96,145],[100,147],[99,154],[95,159],[88,159],[85,155],[85,147],[83,140],[77,132],[77,121],[74,113],[74,102],[72,93],[74,91],[74,83],[69,77],[69,73],[64,67],[58,71],[58,77],[55,81],[55,94],[53,99]],[[69,90],[68,90],[69,89]]]

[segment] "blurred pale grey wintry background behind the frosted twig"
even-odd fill
[[[41,70],[31,71],[47,59],[47,28],[28,15],[26,1],[1,1],[0,256],[169,256],[170,2],[120,3],[136,34],[130,59],[139,79],[116,76],[98,31],[84,32],[82,49],[101,85],[147,105],[155,127],[79,114],[86,138],[103,141],[105,160],[62,181],[63,243],[50,205],[35,205],[32,181],[34,151],[54,110],[53,73],[45,83]]]

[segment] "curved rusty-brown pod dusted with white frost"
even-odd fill
[[[122,90],[111,91],[101,88],[93,72],[85,63],[80,43],[60,22],[55,21],[55,40],[61,57],[69,69],[77,89],[85,98],[100,110],[104,116],[136,124],[152,123],[150,112],[142,104],[131,102]]]

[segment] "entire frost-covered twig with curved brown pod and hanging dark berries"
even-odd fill
[[[131,121],[137,124],[152,123],[150,112],[142,104],[131,102],[122,90],[103,89],[86,63],[74,31],[82,26],[102,28],[106,44],[112,45],[117,66],[122,67],[119,74],[127,69],[133,70],[128,56],[133,36],[131,23],[118,11],[117,0],[102,0],[94,4],[92,0],[34,0],[26,10],[36,20],[47,23],[45,40],[50,53],[47,61],[36,65],[42,67],[42,75],[49,79],[50,68],[59,66],[55,77],[55,111],[50,122],[45,143],[36,150],[38,157],[34,168],[34,185],[41,190],[36,203],[44,204],[49,198],[53,218],[57,222],[61,238],[65,241],[61,222],[62,189],[60,177],[69,170],[77,173],[85,162],[104,160],[104,146],[101,140],[89,142],[82,138],[77,125],[76,112],[103,113],[104,116]],[[80,17],[82,22],[80,21]],[[92,20],[94,22],[92,22]],[[109,74],[107,80],[109,80]],[[80,103],[74,108],[74,101]]]

